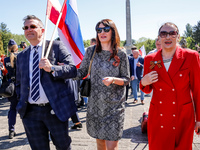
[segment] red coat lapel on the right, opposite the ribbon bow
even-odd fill
[[[181,48],[177,47],[176,52],[174,54],[174,57],[172,59],[172,62],[170,64],[168,73],[171,79],[175,76],[175,74],[179,71],[181,68],[183,62],[184,62],[184,57],[183,57],[183,51]]]

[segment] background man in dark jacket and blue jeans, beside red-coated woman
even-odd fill
[[[139,55],[139,50],[137,50],[136,46],[132,46],[131,48],[133,57],[130,57],[129,64],[130,64],[130,76],[131,76],[131,87],[134,96],[133,103],[138,101],[137,98],[137,86],[142,79],[143,75],[143,64],[144,58]],[[141,103],[144,105],[144,93],[141,91]]]

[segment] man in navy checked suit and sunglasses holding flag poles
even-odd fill
[[[31,149],[50,149],[50,133],[56,149],[69,150],[68,118],[77,109],[72,85],[66,79],[76,77],[76,67],[59,41],[53,42],[48,59],[41,59],[44,28],[39,18],[26,16],[23,29],[31,45],[17,56],[17,110]],[[46,42],[45,50],[48,45]]]

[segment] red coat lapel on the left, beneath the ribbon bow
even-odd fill
[[[172,80],[168,74],[168,72],[166,71],[165,69],[165,66],[164,66],[164,63],[163,63],[163,59],[162,59],[162,54],[161,54],[161,50],[159,50],[157,52],[157,54],[155,55],[153,61],[159,61],[161,60],[161,68],[158,68],[158,66],[156,65],[154,68],[155,68],[155,71],[157,71],[158,73],[158,79],[159,78],[162,78],[162,80],[164,80],[166,83],[168,83],[171,87],[173,87],[173,84],[172,84]]]

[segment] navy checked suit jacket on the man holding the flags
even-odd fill
[[[49,42],[46,44],[45,52]],[[17,110],[20,117],[23,118],[27,111],[27,103],[29,96],[29,57],[31,48],[28,47],[17,56],[17,70],[16,70],[16,92],[18,95],[19,103]],[[54,41],[50,50],[48,59],[55,67],[55,76],[52,73],[40,70],[40,81],[44,88],[45,94],[49,103],[54,110],[56,116],[61,121],[68,120],[69,117],[77,111],[74,103],[74,93],[72,84],[68,84],[69,78],[76,77],[77,70],[74,65],[71,55],[60,41]],[[57,63],[61,62],[66,65],[58,66]]]

